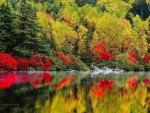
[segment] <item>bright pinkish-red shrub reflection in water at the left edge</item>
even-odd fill
[[[11,87],[17,79],[16,73],[8,73],[7,75],[0,75],[0,89]]]

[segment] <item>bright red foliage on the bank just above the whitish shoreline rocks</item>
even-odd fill
[[[103,61],[103,60],[111,60],[111,61],[113,61],[114,60],[114,56],[110,52],[108,52],[108,51],[105,50],[104,45],[101,42],[98,43],[95,46],[95,48],[93,49],[92,52],[94,54],[99,55],[98,59],[100,61]]]

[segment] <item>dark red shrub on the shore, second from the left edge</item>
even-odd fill
[[[24,59],[24,58],[20,58],[18,59],[18,68],[19,69],[23,69],[23,70],[27,70],[29,67],[29,61]]]

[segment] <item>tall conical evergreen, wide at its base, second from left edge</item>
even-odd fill
[[[47,54],[48,45],[42,38],[41,28],[36,22],[36,9],[27,2],[21,0],[16,19],[16,47],[13,48],[18,56],[31,56],[33,54]]]

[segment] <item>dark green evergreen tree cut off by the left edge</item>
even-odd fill
[[[10,52],[13,46],[13,9],[5,3],[0,7],[0,51]]]

